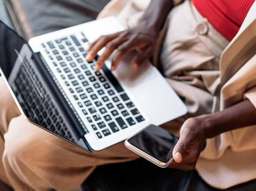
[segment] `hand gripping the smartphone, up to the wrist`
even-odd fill
[[[198,118],[188,118],[180,129],[180,139],[173,149],[173,161],[168,167],[185,171],[193,170],[205,140],[202,121]]]

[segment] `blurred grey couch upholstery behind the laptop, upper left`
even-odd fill
[[[28,40],[96,19],[110,0],[4,0],[19,35]]]

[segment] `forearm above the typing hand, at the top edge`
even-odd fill
[[[168,12],[172,8],[173,0],[152,0],[140,23],[155,31],[159,31],[164,24]]]

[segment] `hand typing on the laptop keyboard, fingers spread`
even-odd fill
[[[88,62],[91,61],[96,57],[99,50],[106,47],[102,55],[97,58],[97,64],[94,69],[98,71],[102,68],[111,53],[116,50],[112,57],[111,66],[111,70],[115,70],[126,53],[131,50],[137,50],[137,55],[132,58],[130,63],[132,71],[135,71],[140,63],[152,56],[156,39],[157,32],[147,29],[143,25],[115,34],[101,36],[89,45],[86,60]]]

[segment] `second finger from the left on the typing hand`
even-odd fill
[[[102,53],[101,56],[98,57],[97,59],[97,64],[95,66],[95,70],[98,71],[99,69],[102,68],[102,66],[104,65],[105,61],[107,60],[107,58],[109,58],[109,56],[112,54],[112,52],[122,43],[124,43],[127,39],[124,38],[122,35],[117,37],[116,39],[113,39],[109,42],[107,42],[106,44],[106,49],[104,50],[104,52]]]

